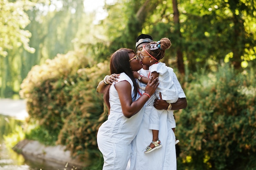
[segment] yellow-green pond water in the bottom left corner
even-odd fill
[[[0,108],[1,112],[1,108]],[[4,140],[17,127],[22,127],[23,121],[17,120],[11,116],[0,114],[0,170],[75,170],[74,167],[60,165],[58,163],[27,157],[14,152],[7,147],[8,143]],[[13,139],[14,140],[14,139]],[[78,169],[76,169],[78,170]]]

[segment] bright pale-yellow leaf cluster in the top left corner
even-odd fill
[[[7,56],[7,51],[13,49],[13,46],[23,45],[26,50],[34,51],[28,45],[31,33],[24,30],[30,22],[25,10],[33,5],[29,0],[0,1],[0,57]]]

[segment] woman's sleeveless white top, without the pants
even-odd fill
[[[121,73],[119,77],[120,78],[117,83],[121,81],[128,81],[132,87],[132,97],[135,96],[132,80],[125,73]],[[108,116],[108,120],[99,128],[97,136],[100,136],[101,139],[112,143],[128,145],[139,131],[139,127],[143,119],[144,107],[131,118],[126,118],[122,112],[119,96],[114,84],[110,87],[109,95],[110,114]],[[139,94],[137,94],[135,100],[139,97]]]

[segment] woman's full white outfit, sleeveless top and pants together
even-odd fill
[[[132,98],[134,98],[132,80],[125,73],[121,73],[119,77],[117,83],[121,81],[130,83]],[[99,128],[97,143],[104,158],[103,170],[124,170],[131,156],[131,142],[143,119],[144,107],[131,118],[126,118],[122,112],[114,84],[111,85],[109,94],[110,114],[108,120]],[[139,98],[139,94],[133,101],[137,98]]]

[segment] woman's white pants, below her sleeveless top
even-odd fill
[[[125,170],[130,159],[131,144],[122,145],[97,138],[99,150],[104,159],[103,170]]]

